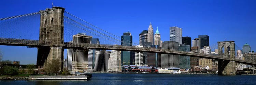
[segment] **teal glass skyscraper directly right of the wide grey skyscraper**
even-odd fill
[[[182,44],[179,46],[179,51],[190,52],[190,46],[186,45],[186,44]],[[181,68],[181,69],[190,68],[190,57],[189,56],[179,55],[179,68]]]

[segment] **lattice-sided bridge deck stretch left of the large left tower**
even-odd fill
[[[15,39],[15,38],[0,38],[1,44],[19,44],[19,45],[38,45],[38,46],[49,46],[51,41],[39,41],[29,39]]]

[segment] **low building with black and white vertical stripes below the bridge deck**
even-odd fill
[[[95,52],[95,70],[108,71],[108,61],[111,51],[96,51]]]

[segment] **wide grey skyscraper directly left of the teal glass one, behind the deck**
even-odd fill
[[[162,43],[162,49],[178,50],[179,43],[175,41],[164,41]],[[161,54],[162,68],[179,67],[179,56],[170,54]]]

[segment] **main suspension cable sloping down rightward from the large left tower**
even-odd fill
[[[71,20],[71,21],[73,21],[73,22],[76,22],[76,23],[80,24],[80,25],[83,26],[83,27],[86,27],[86,28],[89,28],[89,29],[91,29],[91,30],[93,30],[93,31],[95,31],[95,32],[98,32],[98,31],[96,31],[96,30],[94,30],[94,29],[92,29],[92,28],[90,28],[90,27],[88,27],[88,26],[85,26],[85,25],[82,24],[82,23],[79,23],[79,22],[77,22],[77,21],[75,21],[75,20],[73,20],[73,19],[67,17],[67,16],[64,16],[64,17],[67,18],[67,19],[69,19],[69,20]],[[98,33],[102,34],[101,32],[98,32]],[[102,34],[102,35],[105,35],[105,34]],[[98,36],[99,36],[99,35],[98,35]],[[105,36],[108,36],[108,35],[105,35]],[[115,39],[115,38],[113,38],[113,37],[111,37],[111,36],[108,36],[108,37],[110,37],[110,38],[112,38],[112,39]],[[120,40],[118,40],[118,39],[115,39],[115,40],[120,41]],[[126,42],[124,42],[124,41],[120,41],[120,42],[126,43]],[[131,45],[131,44],[129,44],[129,43],[126,43],[126,44]],[[137,45],[138,45],[138,44],[137,44]],[[134,45],[132,45],[132,46],[134,46]],[[144,47],[144,48],[154,49],[154,48],[149,48],[149,47]],[[154,50],[156,50],[156,49],[154,49]],[[162,50],[159,50],[159,51],[162,51]]]

